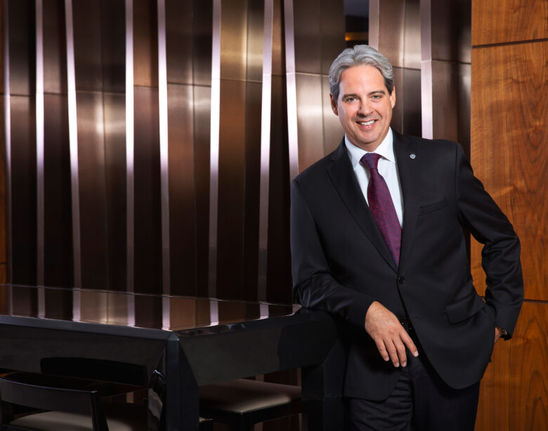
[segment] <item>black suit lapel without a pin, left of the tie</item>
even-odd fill
[[[348,154],[346,153],[346,146],[344,144],[344,138],[341,144],[334,151],[332,163],[327,168],[337,192],[341,199],[344,201],[346,208],[350,211],[355,222],[358,223],[363,233],[367,235],[372,244],[377,248],[381,256],[387,263],[398,272],[396,264],[394,263],[392,256],[390,255],[389,248],[386,246],[384,239],[381,237],[381,233],[377,228],[371,215],[371,211],[367,206],[367,203],[363,197],[358,180],[356,180],[352,164]]]

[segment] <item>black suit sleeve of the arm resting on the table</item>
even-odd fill
[[[291,187],[291,255],[294,300],[363,328],[374,299],[332,277],[313,214],[296,180]]]

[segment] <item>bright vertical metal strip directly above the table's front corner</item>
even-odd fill
[[[158,112],[160,187],[162,190],[162,318],[164,328],[169,328],[169,142],[167,133],[167,53],[166,53],[166,1],[158,0]]]

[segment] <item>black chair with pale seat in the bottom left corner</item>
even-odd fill
[[[39,376],[39,375],[37,375]],[[25,380],[0,378],[0,425],[2,431],[141,431],[147,430],[145,406],[129,403],[102,403],[97,389],[71,389],[41,386]],[[40,380],[37,377],[37,380]],[[72,379],[74,380],[74,379]],[[81,386],[85,387],[85,383]],[[15,406],[32,411],[16,415]],[[209,426],[209,428],[208,428]],[[211,422],[200,424],[200,430],[211,430]]]

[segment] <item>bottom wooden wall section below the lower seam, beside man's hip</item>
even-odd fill
[[[495,345],[481,382],[476,431],[540,431],[548,424],[548,303],[524,303],[509,341]]]

